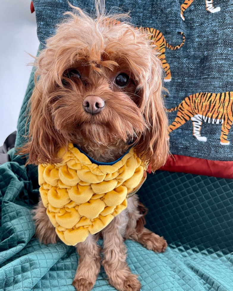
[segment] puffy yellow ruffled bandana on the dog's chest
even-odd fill
[[[38,167],[40,196],[59,238],[75,246],[127,207],[146,168],[133,148],[114,165],[93,164],[73,144],[58,155],[62,163]]]

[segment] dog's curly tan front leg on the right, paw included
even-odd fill
[[[102,230],[102,265],[109,283],[119,291],[139,291],[141,284],[126,263],[126,247],[122,238],[127,221],[124,211]]]

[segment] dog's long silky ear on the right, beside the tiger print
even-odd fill
[[[150,71],[149,82],[145,80],[141,89],[141,109],[148,127],[141,135],[136,151],[155,171],[165,164],[169,151],[168,119],[161,94],[162,68],[155,56],[151,59]]]

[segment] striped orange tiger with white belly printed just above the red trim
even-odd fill
[[[201,136],[202,122],[222,124],[220,143],[229,145],[227,140],[229,130],[233,122],[233,92],[224,93],[196,93],[185,97],[176,107],[167,111],[177,111],[177,116],[169,125],[169,132],[177,129],[191,119],[193,123],[193,135],[197,140],[206,142],[207,138]]]

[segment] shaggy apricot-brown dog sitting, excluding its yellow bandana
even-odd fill
[[[66,12],[36,58],[35,87],[30,99],[28,142],[20,154],[28,164],[55,164],[59,148],[77,144],[91,158],[112,162],[132,145],[152,171],[168,154],[168,121],[164,110],[162,67],[147,34],[124,15],[107,15],[97,1],[93,18],[77,7]],[[119,19],[114,24],[116,19]],[[122,20],[123,19],[123,20]],[[144,227],[144,206],[135,194],[127,208],[102,231],[75,247],[80,256],[73,285],[89,291],[102,265],[109,283],[120,291],[141,284],[126,263],[125,239],[164,252],[166,240]],[[34,209],[36,237],[56,243],[58,236],[42,201]],[[97,245],[103,238],[103,249]]]

